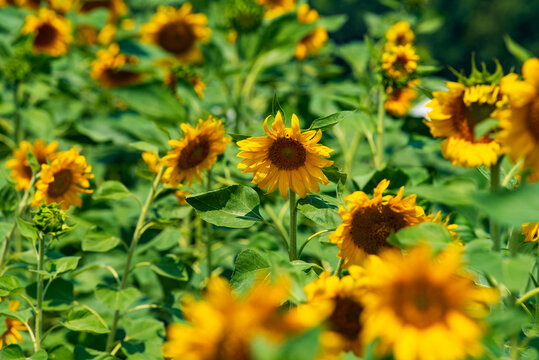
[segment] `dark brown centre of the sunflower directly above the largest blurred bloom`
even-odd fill
[[[392,247],[387,238],[392,232],[408,226],[403,216],[389,206],[378,204],[360,209],[354,214],[350,235],[354,244],[367,254],[379,254]]]

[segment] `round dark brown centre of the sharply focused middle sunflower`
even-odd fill
[[[307,151],[297,140],[279,138],[271,144],[268,158],[280,170],[295,170],[305,165]]]

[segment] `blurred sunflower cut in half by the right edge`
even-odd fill
[[[506,75],[500,83],[509,106],[498,113],[498,138],[513,160],[524,159],[524,166],[539,177],[539,59],[526,60],[522,75],[524,80]]]

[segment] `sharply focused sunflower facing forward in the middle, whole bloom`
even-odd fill
[[[292,127],[285,128],[281,113],[277,113],[275,121],[268,128],[268,116],[264,120],[264,131],[267,136],[250,137],[238,141],[243,158],[238,168],[243,173],[253,173],[253,183],[271,193],[277,187],[283,198],[288,190],[304,198],[309,192],[318,192],[320,187],[329,184],[322,169],[333,164],[329,157],[333,150],[318,142],[322,131],[309,130],[301,132],[299,119],[292,115]]]

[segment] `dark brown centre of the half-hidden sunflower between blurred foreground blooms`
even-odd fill
[[[359,317],[362,311],[363,306],[356,301],[346,297],[337,297],[335,309],[329,317],[330,329],[349,340],[357,339],[361,332]]]

